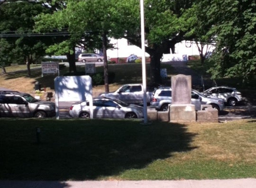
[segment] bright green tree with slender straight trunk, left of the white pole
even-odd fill
[[[103,49],[106,92],[109,92],[106,49],[109,43],[108,34],[111,29],[111,21],[109,21],[110,3],[110,0],[68,0],[66,8],[56,11],[54,14],[40,15],[37,22],[38,30],[67,28],[70,39],[55,45],[55,48],[66,43],[66,48],[64,46],[63,48],[68,50],[71,46],[67,45],[69,43],[83,46],[84,49]]]

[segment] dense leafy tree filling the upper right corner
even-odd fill
[[[211,58],[212,78],[241,77],[249,81],[256,75],[256,1],[211,0],[208,19],[216,36],[216,51]]]

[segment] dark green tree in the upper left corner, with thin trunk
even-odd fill
[[[45,54],[47,42],[52,39],[51,37],[42,39],[33,32],[34,17],[47,10],[46,6],[36,1],[11,1],[0,6],[0,32],[13,47],[6,55],[13,61],[26,63],[29,76],[30,65]]]

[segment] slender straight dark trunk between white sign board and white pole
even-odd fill
[[[104,56],[104,82],[105,92],[109,93],[109,74],[108,74],[108,57],[107,57],[107,35],[105,32],[102,33],[102,48]]]

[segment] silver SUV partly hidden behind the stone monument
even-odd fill
[[[172,88],[171,87],[159,87],[153,93],[150,105],[155,107],[156,110],[166,111],[169,104],[172,103]],[[195,105],[196,110],[201,110],[201,104],[210,104],[217,110],[224,109],[224,103],[222,99],[208,98],[198,92],[197,90],[191,90],[191,104]]]

